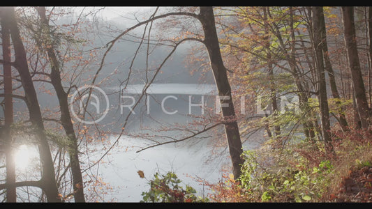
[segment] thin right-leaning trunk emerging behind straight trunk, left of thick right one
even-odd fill
[[[337,86],[336,86],[336,79],[334,77],[334,70],[332,68],[332,63],[329,59],[329,56],[328,56],[328,46],[327,46],[327,33],[326,33],[326,29],[325,29],[325,15],[323,13],[323,8],[320,7],[319,8],[320,10],[320,14],[319,14],[319,18],[320,18],[320,39],[321,39],[321,42],[320,42],[320,45],[322,46],[322,52],[323,52],[323,57],[324,57],[324,61],[325,61],[325,70],[327,70],[328,72],[328,77],[329,77],[329,84],[331,86],[331,91],[332,91],[332,96],[333,98],[337,99],[336,101],[336,104],[338,105],[339,109],[338,109],[338,118],[339,118],[339,121],[340,121],[340,125],[341,125],[341,128],[344,132],[348,131],[349,128],[348,128],[348,122],[346,121],[346,118],[345,118],[345,114],[343,113],[345,111],[345,109],[343,107],[341,107],[341,101],[339,101],[340,99],[340,95],[338,94],[338,90],[337,90]]]

